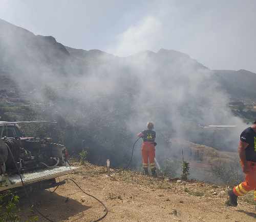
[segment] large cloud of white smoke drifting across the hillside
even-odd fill
[[[144,51],[163,38],[163,29],[158,19],[148,16],[119,34],[118,43],[109,47],[108,52],[131,55],[125,58],[97,51],[75,51],[72,54],[69,49],[68,55],[52,38],[41,41],[42,37],[35,37],[29,32],[10,38],[10,34],[5,33],[1,41],[11,51],[2,54],[2,61],[11,64],[10,70],[15,71],[13,76],[23,80],[19,81],[20,87],[24,87],[25,83],[36,83],[38,89],[50,86],[58,96],[65,97],[67,104],[64,109],[54,107],[49,112],[73,116],[81,129],[89,133],[97,127],[98,131],[95,130],[92,137],[108,155],[112,155],[110,151],[118,135],[134,135],[129,141],[135,141],[136,135],[145,129],[149,120],[154,122],[157,136],[161,132],[161,135],[194,142],[202,139],[197,131],[199,124],[237,125],[238,131],[220,138],[222,150],[227,147],[229,151],[236,151],[240,129],[245,129],[246,125],[232,115],[228,108],[228,96],[220,90],[214,73],[188,55],[174,50]],[[19,42],[23,41],[27,44],[20,45]],[[59,48],[61,51],[58,51]],[[25,55],[20,56],[23,52]],[[122,98],[127,95],[131,95],[132,103],[125,109],[126,103]],[[44,95],[39,96],[47,100]],[[107,97],[108,100],[104,101]],[[80,109],[74,109],[72,101],[81,104]],[[119,106],[119,102],[124,105]],[[113,110],[118,110],[115,116],[112,115]],[[127,110],[135,110],[135,114],[124,122],[126,114],[122,114]],[[115,129],[117,121],[123,121],[127,132]],[[96,126],[92,126],[95,122]],[[165,152],[166,157],[172,156],[171,152],[163,151],[161,137],[157,137],[156,141],[157,155]],[[139,152],[139,149],[135,151],[138,158]]]

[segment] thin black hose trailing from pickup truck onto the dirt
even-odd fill
[[[21,175],[20,172],[19,172],[19,169],[18,169],[18,167],[17,167],[17,165],[16,165],[16,161],[15,161],[13,155],[12,155],[12,152],[11,152],[9,146],[7,146],[7,149],[8,149],[8,151],[10,152],[10,155],[11,155],[11,157],[12,157],[12,160],[14,161],[14,164],[15,164],[15,166],[16,166],[16,169],[18,170],[18,174],[19,174],[20,180],[22,181],[22,186],[23,186],[23,188],[24,188],[24,190],[25,190],[25,193],[26,193],[26,196],[27,196],[29,202],[32,204],[33,208],[34,208],[42,217],[46,218],[47,220],[49,220],[49,221],[51,221],[51,222],[55,222],[55,221],[53,221],[53,220],[47,218],[47,217],[46,217],[45,215],[43,215],[42,213],[40,213],[40,211],[38,211],[38,210],[36,209],[36,207],[34,206],[34,204],[32,203],[32,201],[30,200],[29,195],[28,195],[28,192],[27,192],[26,187],[25,187],[25,184],[24,184],[23,179],[22,179],[22,175]],[[67,179],[65,179],[65,180],[71,180],[71,181],[73,181],[73,182],[75,183],[76,186],[78,186],[78,185],[76,184],[76,182],[75,182],[74,180],[72,180],[72,179],[67,178]],[[65,181],[65,180],[63,180],[63,181]],[[55,190],[56,190],[57,188],[58,188],[58,186],[55,188]],[[87,195],[89,195],[89,196],[92,196],[92,195],[90,195],[90,194],[84,192],[84,191],[81,189],[81,187],[78,186],[78,188],[79,188],[83,193],[85,193],[85,194],[87,194]],[[54,191],[55,191],[55,190],[54,190]],[[53,191],[53,192],[54,192],[54,191]],[[103,219],[103,218],[106,216],[106,214],[108,214],[108,208],[106,208],[106,206],[105,206],[100,200],[98,200],[98,199],[95,198],[94,196],[92,196],[92,197],[93,197],[94,199],[96,199],[97,201],[99,201],[99,202],[104,206],[104,208],[105,208],[105,210],[106,210],[105,214],[104,214],[102,217],[100,217],[100,218],[97,219],[97,220],[92,221],[92,222],[97,222],[97,221],[100,221],[101,219]]]

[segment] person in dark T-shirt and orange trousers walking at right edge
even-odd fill
[[[248,127],[241,133],[238,153],[245,173],[245,182],[228,190],[229,201],[234,207],[238,205],[238,196],[243,196],[250,190],[254,190],[256,202],[256,120],[252,127]]]

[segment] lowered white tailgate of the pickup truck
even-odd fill
[[[52,178],[60,177],[77,168],[79,167],[56,166],[54,168],[40,169],[26,174],[22,174],[22,180],[24,184],[31,184],[42,180],[49,180]],[[2,180],[3,186],[0,186],[0,191],[22,186],[22,181],[20,180],[19,175],[9,177],[3,176]]]

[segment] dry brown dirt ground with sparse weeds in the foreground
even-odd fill
[[[255,221],[253,192],[238,200],[238,207],[227,206],[227,186],[200,181],[176,181],[153,178],[136,172],[112,172],[105,177],[105,167],[80,166],[57,178],[71,178],[85,192],[95,196],[108,208],[101,221]],[[51,188],[53,190],[53,188]],[[31,197],[34,206],[52,221],[95,221],[105,213],[104,207],[67,181],[54,193],[44,190]],[[22,221],[38,216],[26,199],[19,202]]]

